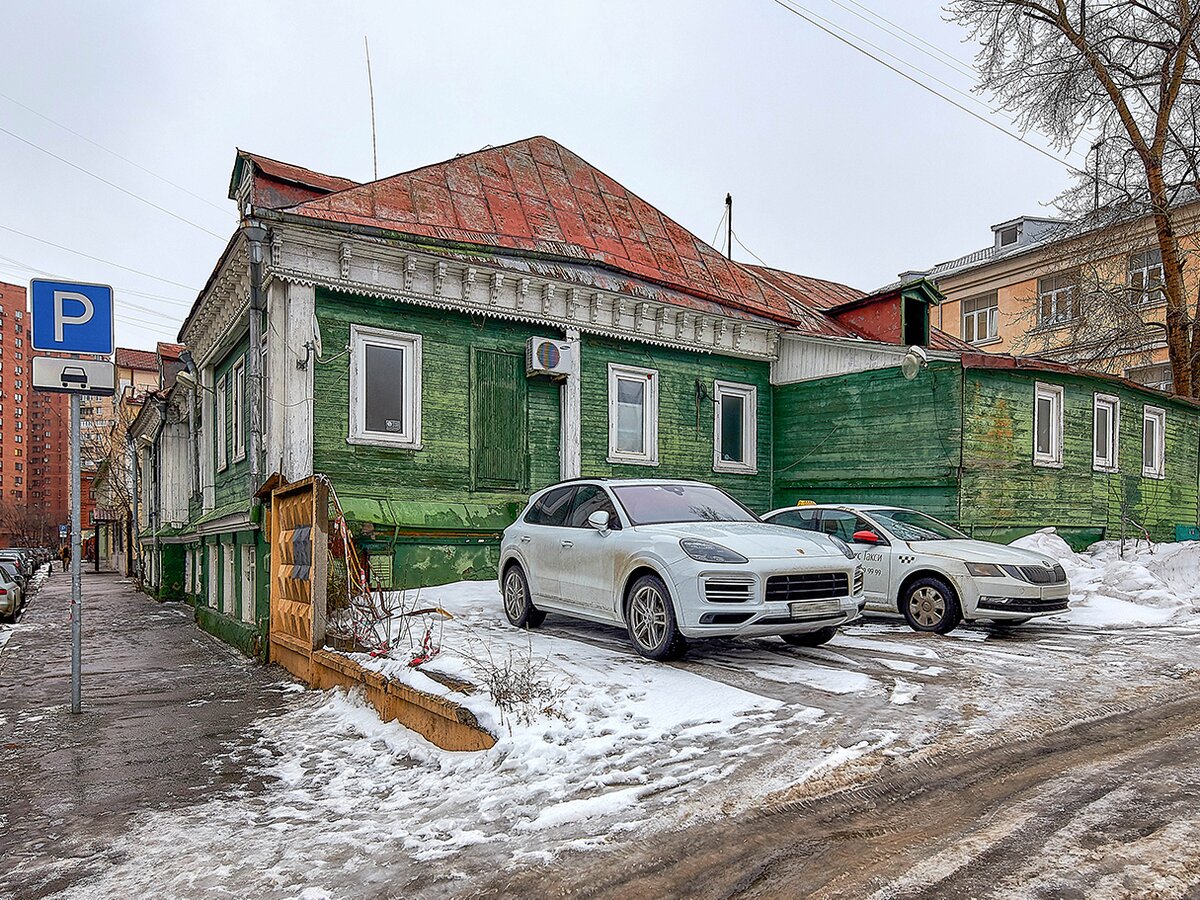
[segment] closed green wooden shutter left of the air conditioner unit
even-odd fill
[[[472,349],[473,490],[522,490],[526,481],[524,358]]]

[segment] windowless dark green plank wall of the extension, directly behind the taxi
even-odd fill
[[[778,385],[774,505],[894,503],[954,522],[961,379],[932,364]]]

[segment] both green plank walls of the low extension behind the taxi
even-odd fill
[[[1033,464],[1038,383],[1063,389],[1063,462]],[[1096,394],[1121,400],[1120,470],[1092,466]],[[1156,540],[1198,521],[1200,410],[1100,378],[934,362],[775,389],[775,503],[890,503],[1010,541],[1046,526],[1075,548],[1120,538],[1122,515]],[[1166,476],[1141,474],[1144,406],[1166,410]]]

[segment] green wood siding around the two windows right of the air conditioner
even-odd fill
[[[659,378],[659,464],[608,462],[608,364],[653,368]],[[713,472],[713,382],[758,389],[758,472]],[[707,398],[697,401],[696,382]],[[583,475],[690,478],[719,485],[758,512],[770,508],[770,366],[584,335],[581,349]]]

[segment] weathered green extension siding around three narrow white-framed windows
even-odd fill
[[[1061,468],[1033,464],[1036,384],[1063,389]],[[1196,523],[1198,413],[1183,403],[1084,377],[971,370],[966,377],[962,524],[1012,539],[1045,526],[1087,539],[1121,535],[1122,511],[1158,540]],[[1121,401],[1117,473],[1092,468],[1096,394]],[[1142,408],[1166,410],[1166,476],[1141,472]]]

